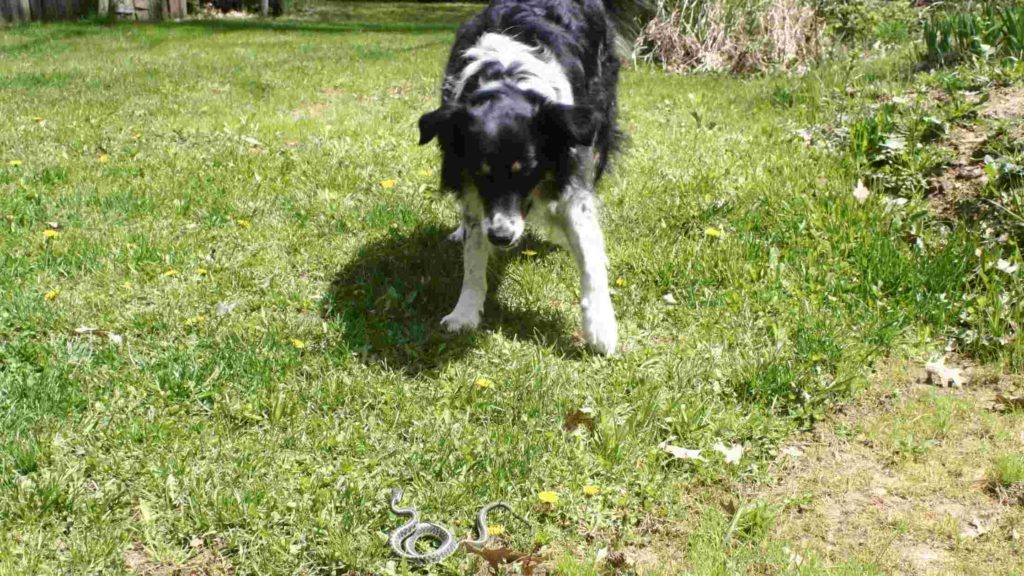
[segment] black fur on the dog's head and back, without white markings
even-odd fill
[[[445,82],[441,107],[420,119],[420,143],[434,137],[440,143],[442,188],[459,194],[471,182],[485,208],[524,199],[546,177],[561,189],[577,169],[569,151],[578,145],[593,146],[596,182],[618,139],[620,61],[605,3],[493,0],[459,30],[445,78],[460,76],[468,64],[465,52],[488,32],[550,51],[569,80],[573,104],[545,101],[511,82],[494,89],[495,80],[512,79],[517,72],[497,63],[468,79],[458,94]],[[483,84],[492,89],[481,90]],[[479,173],[484,161],[489,174]],[[512,174],[507,168],[517,161],[521,168]]]

